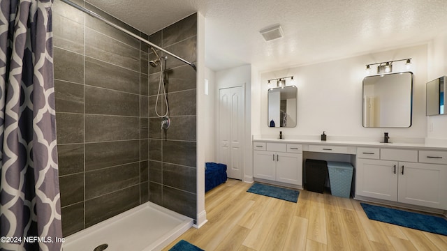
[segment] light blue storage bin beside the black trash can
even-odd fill
[[[349,162],[328,161],[331,195],[349,198],[354,167]]]

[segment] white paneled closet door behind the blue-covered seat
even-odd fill
[[[244,86],[219,89],[219,162],[229,178],[244,174]]]

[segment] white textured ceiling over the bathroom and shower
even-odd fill
[[[200,12],[205,64],[273,70],[425,43],[447,31],[447,0],[88,0],[151,34]],[[281,24],[284,38],[261,29]],[[411,56],[411,55],[409,55]]]

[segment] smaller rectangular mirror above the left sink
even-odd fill
[[[296,86],[284,86],[268,90],[268,126],[295,127],[297,119]]]

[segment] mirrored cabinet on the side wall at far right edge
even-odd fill
[[[427,83],[427,116],[446,114],[447,77],[439,77]]]

